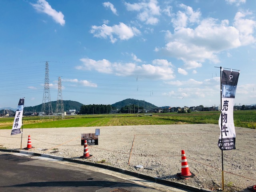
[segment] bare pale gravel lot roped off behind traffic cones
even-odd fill
[[[81,134],[100,129],[99,144],[89,146],[90,159],[81,159]],[[21,134],[0,130],[0,147],[20,149]],[[108,126],[23,129],[22,148],[31,136],[31,152],[54,154],[105,164],[153,177],[210,190],[222,188],[220,129],[214,124]],[[190,172],[181,180],[181,150],[185,150]],[[224,151],[225,191],[249,192],[256,185],[256,130],[236,127],[236,150]],[[137,169],[137,165],[143,168]]]

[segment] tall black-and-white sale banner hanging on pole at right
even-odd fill
[[[236,132],[234,126],[233,108],[238,76],[239,72],[234,72],[232,70],[222,71],[222,108],[219,118],[220,137],[218,146],[223,150],[236,149]]]

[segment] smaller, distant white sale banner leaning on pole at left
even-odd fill
[[[23,108],[24,108],[24,98],[21,98],[20,101],[19,101],[19,104],[18,104],[18,108],[17,108],[16,113],[15,113],[11,135],[21,133],[20,128],[22,126]]]

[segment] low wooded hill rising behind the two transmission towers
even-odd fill
[[[52,110],[55,112],[57,101],[52,101]],[[48,103],[46,103],[48,104]],[[82,103],[70,100],[63,100],[64,111],[68,111],[70,109],[80,110],[81,106],[84,105]],[[24,112],[40,112],[42,111],[42,104],[34,106],[34,107],[24,107]]]

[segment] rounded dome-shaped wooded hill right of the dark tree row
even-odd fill
[[[158,108],[158,106],[155,106],[151,103],[148,103],[148,102],[143,101],[143,100],[136,100],[136,99],[125,99],[125,100],[122,100],[120,102],[116,102],[116,103],[112,104],[111,106],[115,107],[117,109],[121,109],[124,106],[130,106],[130,105],[143,106],[145,109]]]

